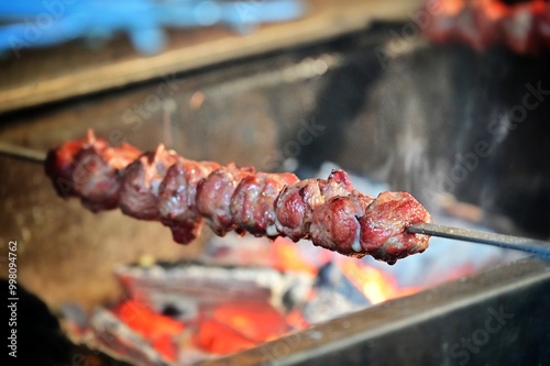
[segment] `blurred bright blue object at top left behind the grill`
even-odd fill
[[[165,45],[165,27],[227,25],[250,32],[261,23],[297,19],[301,0],[25,0],[0,3],[0,53],[45,47],[75,38],[127,32],[138,52]]]

